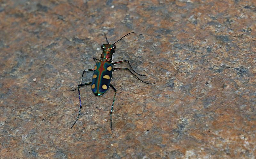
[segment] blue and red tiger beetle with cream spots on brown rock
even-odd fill
[[[129,34],[135,34],[135,33],[131,32]],[[129,34],[124,35],[121,39],[123,39],[125,36],[127,36]],[[107,35],[104,34],[104,36],[106,38],[106,41],[108,42]],[[119,39],[115,43],[119,42],[121,39]],[[80,109],[79,109],[78,116],[76,117],[76,121],[78,120],[78,118],[80,116],[80,113],[81,113],[81,109],[82,109],[80,90],[79,90],[80,87],[86,86],[86,85],[91,85],[92,92],[96,96],[102,96],[104,93],[106,93],[108,91],[109,87],[112,87],[112,89],[115,92],[115,95],[114,95],[113,103],[112,103],[111,110],[110,110],[111,134],[113,134],[112,110],[113,110],[113,106],[114,106],[114,102],[115,102],[115,98],[116,98],[116,88],[111,84],[111,79],[112,79],[113,71],[116,71],[116,70],[128,70],[140,82],[143,82],[143,83],[146,83],[146,84],[149,84],[149,85],[155,84],[155,83],[148,83],[148,82],[144,82],[143,80],[140,80],[133,72],[135,72],[136,74],[138,74],[140,76],[145,76],[145,75],[141,75],[141,74],[137,73],[136,71],[134,71],[132,69],[132,66],[131,66],[131,64],[129,63],[128,60],[117,61],[117,62],[112,63],[112,57],[113,57],[113,55],[115,53],[115,49],[116,49],[115,43],[109,44],[109,42],[108,42],[107,44],[102,44],[101,45],[101,49],[103,51],[102,51],[102,54],[100,56],[100,59],[93,57],[93,60],[96,63],[94,69],[84,70],[84,72],[93,71],[92,82],[82,83],[82,80],[83,80],[83,77],[84,77],[84,72],[83,72],[81,80],[80,80],[80,84],[76,87],[76,89],[78,90],[78,96],[79,96],[79,102],[80,102]],[[125,67],[113,68],[113,66],[118,65],[118,64],[122,64],[124,62],[127,62],[129,64],[130,69],[129,68],[125,68]],[[75,91],[76,89],[73,89],[71,91]],[[76,124],[76,121],[70,127],[70,129]]]

